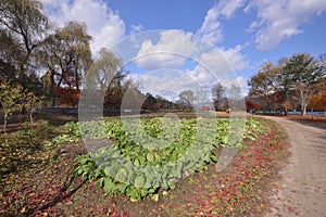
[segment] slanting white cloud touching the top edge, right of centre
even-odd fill
[[[218,3],[208,11],[204,22],[197,34],[208,42],[221,42],[223,40],[223,33],[220,20],[224,17],[230,18],[236,10],[242,7],[243,3],[244,0],[218,1]]]

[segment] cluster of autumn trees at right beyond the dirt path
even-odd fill
[[[308,107],[326,110],[326,55],[293,54],[276,64],[267,62],[249,81],[248,104],[263,111],[289,110],[306,114]]]

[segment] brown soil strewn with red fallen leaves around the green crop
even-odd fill
[[[188,117],[185,115],[184,117]],[[53,117],[55,120],[55,117]],[[64,122],[65,116],[58,122]],[[275,124],[262,120],[265,131],[258,141],[246,141],[233,163],[217,173],[211,165],[177,183],[160,201],[131,203],[127,197],[104,196],[95,182],[74,176],[82,142],[43,150],[42,163],[1,177],[0,214],[16,216],[263,216],[277,183],[287,151]],[[275,138],[278,138],[275,140]],[[273,142],[276,142],[275,144]],[[21,149],[21,148],[20,148]],[[216,150],[217,152],[221,151]],[[29,155],[28,155],[29,158]],[[242,186],[242,184],[247,186]],[[248,188],[248,189],[247,189]],[[5,204],[5,205],[4,205]],[[1,205],[1,206],[2,206]],[[225,214],[225,215],[224,215]]]

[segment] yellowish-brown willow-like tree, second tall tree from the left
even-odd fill
[[[58,89],[67,85],[64,84],[67,82],[67,73],[70,79],[74,81],[68,87],[74,86],[74,89],[80,90],[83,78],[91,64],[90,39],[85,24],[70,22],[43,40],[38,60],[48,69],[42,81],[48,95],[52,97],[52,105],[55,103],[54,87]]]

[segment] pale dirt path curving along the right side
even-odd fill
[[[291,148],[283,181],[272,196],[267,216],[326,217],[326,129],[321,124],[268,117],[287,131]]]

